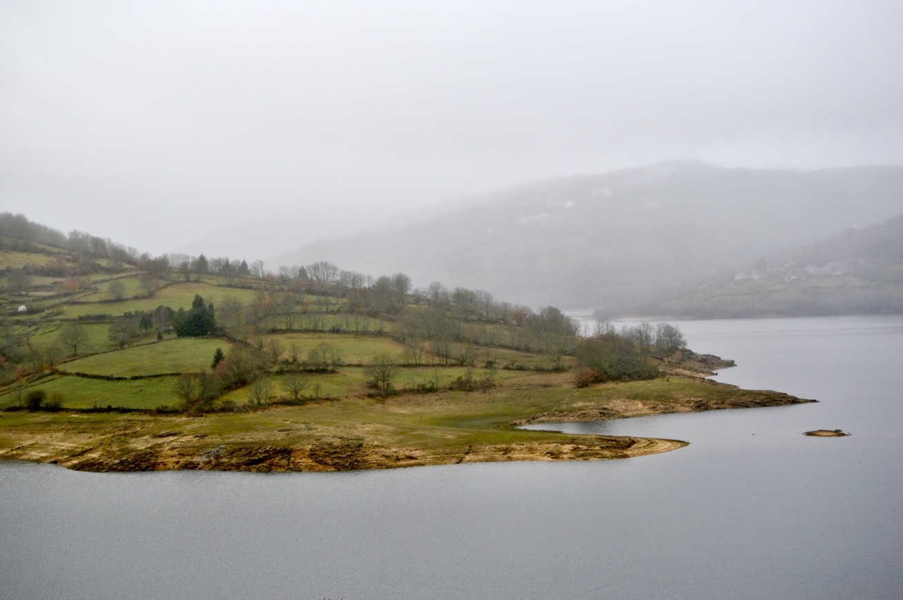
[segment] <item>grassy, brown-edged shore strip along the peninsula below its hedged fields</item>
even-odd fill
[[[734,362],[685,350],[654,357],[661,376],[574,388],[526,373],[488,392],[349,396],[258,411],[186,414],[0,413],[0,460],[76,471],[320,472],[476,462],[610,460],[684,448],[678,439],[519,429],[543,422],[816,402],[707,377]]]

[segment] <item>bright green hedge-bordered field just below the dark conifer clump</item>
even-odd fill
[[[218,347],[228,354],[228,342],[221,339],[175,338],[85,356],[60,365],[60,371],[116,377],[191,373],[209,369]]]

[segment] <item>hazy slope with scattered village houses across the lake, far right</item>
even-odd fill
[[[734,318],[903,312],[903,215],[725,270],[684,291],[600,311]]]

